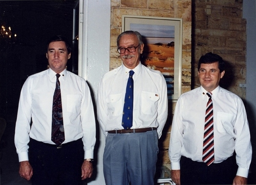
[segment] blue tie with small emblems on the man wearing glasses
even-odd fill
[[[134,71],[129,72],[127,81],[124,105],[123,105],[123,118],[122,126],[124,129],[130,129],[133,126],[133,74]]]

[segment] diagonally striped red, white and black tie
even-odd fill
[[[203,162],[209,166],[214,162],[214,108],[212,107],[211,93],[206,94],[209,96],[209,100],[205,112]]]

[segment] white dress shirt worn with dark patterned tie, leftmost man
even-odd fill
[[[84,158],[93,158],[96,128],[89,87],[83,78],[66,69],[60,73],[59,81],[65,129],[63,144],[82,138]],[[55,86],[56,73],[51,69],[29,76],[23,85],[15,128],[19,162],[29,160],[29,137],[54,144],[51,141],[51,132]]]

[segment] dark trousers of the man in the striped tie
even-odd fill
[[[232,184],[238,166],[236,155],[219,164],[207,166],[181,156],[180,160],[181,184]]]

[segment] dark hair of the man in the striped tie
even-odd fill
[[[218,67],[220,69],[220,72],[225,70],[224,60],[217,54],[212,54],[212,52],[207,52],[207,54],[205,54],[204,56],[202,56],[199,59],[198,67],[197,67],[198,71],[201,67],[201,64],[211,64],[211,63],[215,63],[215,62],[219,63]]]

